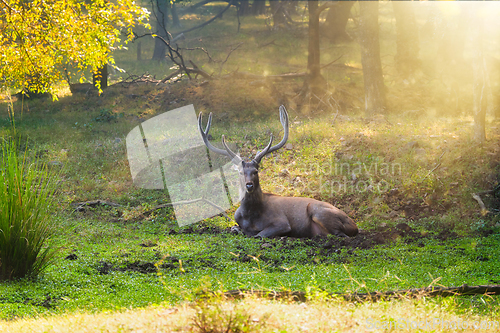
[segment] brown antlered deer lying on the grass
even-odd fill
[[[279,115],[284,129],[283,139],[272,146],[271,134],[269,144],[250,161],[245,161],[234,153],[226,144],[224,135],[224,149],[213,146],[208,140],[212,113],[208,116],[205,130],[202,127],[202,113],[198,116],[198,129],[205,146],[217,154],[231,158],[238,167],[241,204],[234,214],[234,219],[240,230],[247,236],[257,238],[313,238],[329,234],[339,237],[356,236],[356,223],[330,203],[306,197],[284,197],[262,191],[259,179],[262,158],[282,148],[288,140],[288,113],[283,105],[279,108]]]

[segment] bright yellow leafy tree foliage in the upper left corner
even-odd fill
[[[53,94],[65,69],[83,76],[114,64],[112,51],[148,14],[132,0],[0,0],[0,84]]]

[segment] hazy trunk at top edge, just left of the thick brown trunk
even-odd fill
[[[323,33],[328,39],[333,42],[351,40],[345,32],[345,27],[353,5],[354,1],[337,1],[334,7],[328,9],[323,25]]]

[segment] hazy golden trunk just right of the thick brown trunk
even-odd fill
[[[418,26],[413,6],[414,3],[409,1],[392,1],[396,18],[397,45],[394,61],[403,79],[408,79],[420,68]]]

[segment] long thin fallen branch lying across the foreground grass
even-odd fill
[[[229,290],[224,296],[231,299],[241,299],[247,295],[265,297],[271,299],[287,299],[298,302],[307,301],[307,293],[303,291],[263,291],[263,290]],[[460,287],[426,287],[396,291],[374,291],[368,293],[329,293],[332,297],[342,297],[344,300],[352,301],[378,301],[395,298],[418,298],[418,297],[448,297],[448,296],[471,296],[471,295],[500,295],[500,285],[468,286]]]

